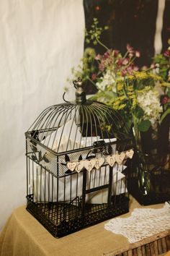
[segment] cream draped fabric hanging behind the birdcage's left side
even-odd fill
[[[63,101],[66,78],[83,55],[83,1],[1,0],[0,48],[1,230],[26,203],[24,132]]]

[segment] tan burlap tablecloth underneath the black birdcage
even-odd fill
[[[145,208],[161,208],[163,204]],[[130,197],[130,213],[142,206]],[[123,217],[130,216],[130,213]],[[128,240],[104,229],[104,221],[74,234],[55,239],[25,206],[13,211],[0,236],[1,256],[99,256],[128,247]],[[112,254],[113,255],[113,254]]]

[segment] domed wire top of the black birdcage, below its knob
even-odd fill
[[[97,101],[75,101],[46,108],[26,134],[61,153],[93,145],[93,137],[125,140],[128,129],[113,108]]]

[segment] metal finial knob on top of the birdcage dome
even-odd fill
[[[79,77],[77,80],[74,80],[73,85],[76,88],[76,103],[85,103],[86,93],[84,92],[81,78]]]

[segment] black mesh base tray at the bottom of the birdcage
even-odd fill
[[[35,203],[32,202],[32,195],[30,195],[27,196],[27,210],[42,223],[42,226],[45,226],[45,229],[48,229],[50,234],[59,238],[128,213],[129,198],[117,195],[112,197],[110,205],[86,204],[82,210],[77,205],[66,203]]]

